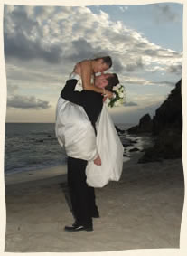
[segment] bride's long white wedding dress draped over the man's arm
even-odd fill
[[[79,85],[76,90],[81,90]],[[96,128],[97,137],[81,106],[62,98],[58,100],[55,132],[61,147],[65,147],[67,156],[88,160],[87,184],[103,187],[109,181],[120,179],[124,152],[105,103]],[[101,166],[96,166],[93,162],[98,154]]]

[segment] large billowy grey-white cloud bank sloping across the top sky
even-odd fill
[[[153,64],[169,72],[171,65],[182,64],[181,52],[149,42],[142,33],[111,21],[103,11],[93,14],[87,7],[6,6],[6,58],[68,66],[106,52],[118,72],[148,71]]]

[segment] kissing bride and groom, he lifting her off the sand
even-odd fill
[[[92,218],[99,217],[94,187],[119,180],[122,172],[124,149],[104,103],[112,99],[112,90],[119,83],[117,74],[104,73],[111,66],[109,56],[76,64],[57,103],[55,132],[68,156],[75,219],[65,226],[67,232],[93,231]]]

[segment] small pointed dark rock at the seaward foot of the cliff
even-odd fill
[[[139,124],[135,127],[129,128],[128,133],[147,133],[152,132],[153,121],[149,114],[145,114],[140,120]]]

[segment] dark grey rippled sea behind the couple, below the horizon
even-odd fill
[[[130,128],[133,124],[117,124]],[[6,123],[5,175],[66,164],[53,123]]]

